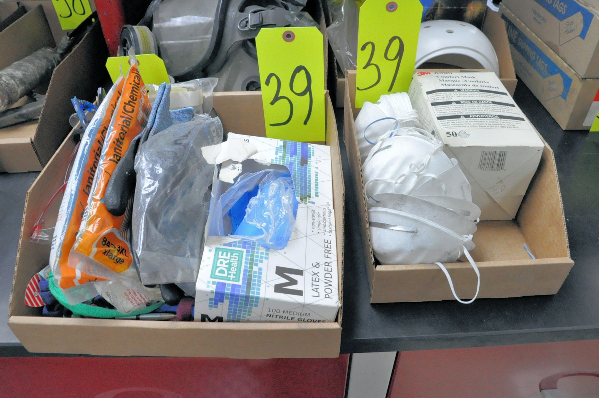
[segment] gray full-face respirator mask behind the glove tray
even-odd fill
[[[318,26],[307,0],[154,0],[123,26],[119,55],[156,53],[177,81],[217,77],[214,91],[260,89],[255,38],[261,28]]]

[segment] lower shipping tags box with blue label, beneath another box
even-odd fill
[[[599,79],[582,79],[506,7],[506,22],[516,73],[564,130],[588,130],[597,116]],[[598,98],[599,99],[599,98]]]

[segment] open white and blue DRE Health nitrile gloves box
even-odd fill
[[[202,153],[220,167],[196,282],[195,320],[335,321],[340,301],[330,148],[229,133],[225,143]],[[298,205],[288,244],[268,249],[257,240],[210,236],[215,220],[223,231],[234,223],[235,211],[222,220],[212,217],[219,214],[219,198],[244,174],[262,170],[291,174]]]

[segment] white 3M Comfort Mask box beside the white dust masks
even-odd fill
[[[491,72],[417,72],[410,100],[472,187],[481,220],[515,218],[544,144]]]

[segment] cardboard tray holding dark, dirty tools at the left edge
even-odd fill
[[[44,11],[38,6],[0,32],[0,69],[42,47],[55,46]],[[49,84],[37,90],[46,94],[40,118],[0,129],[0,172],[39,171],[47,164],[71,130],[71,98],[95,96],[107,76],[107,55],[102,30],[96,22],[56,67]]]

